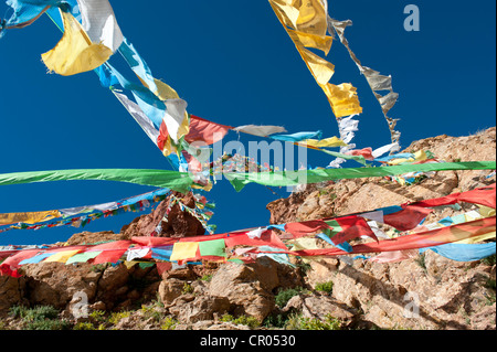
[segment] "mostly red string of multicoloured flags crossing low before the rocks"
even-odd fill
[[[456,199],[475,202],[478,201],[478,196],[475,196],[475,194],[483,196],[484,193],[489,194],[494,189],[495,185],[477,189],[459,194]],[[424,202],[444,204],[451,203],[452,200],[435,199]],[[391,206],[382,209],[382,211],[390,214],[399,207]],[[384,236],[382,236],[382,239],[379,241],[378,237],[371,236],[372,230],[368,227],[370,222],[366,223],[363,220],[363,217],[378,218],[379,216],[374,215],[378,211],[330,220],[304,222],[299,227],[296,224],[286,224],[283,227],[285,232],[293,228],[292,231],[297,234],[297,236],[289,238],[289,244],[293,245],[292,249],[288,249],[287,245],[282,241],[283,236],[281,238],[281,236],[267,230],[267,227],[257,227],[228,234],[184,237],[180,239],[133,237],[130,241],[116,241],[101,245],[45,248],[27,247],[25,249],[18,250],[7,248],[7,250],[0,250],[0,257],[6,258],[0,264],[0,273],[2,275],[20,277],[19,268],[22,265],[50,262],[70,265],[76,263],[115,264],[127,260],[126,264],[130,266],[136,264],[136,259],[139,258],[141,260],[173,262],[172,264],[175,265],[176,262],[178,264],[201,263],[199,260],[241,260],[242,263],[246,263],[256,257],[267,255],[274,260],[289,264],[288,255],[299,256],[308,260],[310,258],[319,258],[320,256],[380,253],[380,256],[373,257],[371,260],[394,263],[412,257],[413,250],[422,249],[421,252],[424,252],[423,248],[433,249],[457,260],[476,260],[495,253],[495,243],[484,244],[482,246],[459,246],[459,244],[466,244],[466,242],[472,239],[490,238],[489,236],[495,238],[495,216],[482,217],[482,214],[468,214],[470,216],[459,216],[461,218],[457,217],[451,223],[441,221],[442,227],[405,233],[395,238],[383,239]],[[405,220],[409,220],[410,214],[403,215]],[[448,224],[448,226],[445,224]],[[276,227],[279,228],[278,226]],[[325,234],[326,230],[328,230],[327,235]],[[308,233],[309,231],[321,231],[321,233],[314,238],[300,236],[306,233],[310,234]],[[346,242],[346,239],[368,237],[372,238],[373,242],[353,246]],[[318,239],[324,239],[331,244],[332,247],[322,248],[318,246],[316,242]],[[226,249],[232,249],[232,253],[237,257],[229,257]],[[148,262],[144,263],[146,265],[154,264]],[[161,266],[161,269],[165,268]]]

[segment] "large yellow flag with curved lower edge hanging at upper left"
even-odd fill
[[[113,51],[101,43],[92,43],[77,20],[61,11],[64,34],[51,51],[42,54],[46,67],[63,76],[92,71],[105,63]]]

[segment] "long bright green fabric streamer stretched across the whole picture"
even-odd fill
[[[246,184],[252,182],[268,186],[288,186],[331,180],[392,177],[409,172],[495,169],[495,161],[469,161],[402,164],[379,168],[317,169],[258,173],[233,172],[224,173],[224,177],[231,182],[236,192],[240,192]],[[170,170],[95,169],[14,172],[0,174],[0,185],[76,180],[127,182],[141,185],[168,188],[181,193],[187,193],[193,184],[193,179],[188,172]]]

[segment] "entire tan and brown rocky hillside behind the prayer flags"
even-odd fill
[[[432,151],[446,161],[495,160],[496,129],[475,136],[440,136],[413,142],[405,151]],[[410,201],[468,191],[495,182],[489,171],[440,172],[413,185],[381,179],[343,180],[308,185],[287,199],[267,205],[272,223],[316,220],[399,205]],[[176,196],[181,196],[176,194]],[[191,194],[182,196],[193,207]],[[186,237],[204,233],[200,222],[178,205],[163,221],[170,199],[148,215],[137,217],[119,234],[81,233],[68,245],[148,236],[160,225],[159,236]],[[462,212],[469,211],[463,207]],[[455,215],[447,209],[427,222]],[[222,317],[250,317],[258,322],[272,317],[300,314],[325,320],[331,316],[346,329],[474,329],[495,330],[495,257],[458,263],[433,252],[411,259],[379,264],[347,257],[321,258],[295,267],[260,257],[252,264],[186,266],[158,274],[157,268],[133,265],[64,265],[40,263],[23,267],[24,276],[0,276],[0,318],[12,306],[53,306],[71,318],[81,299],[91,311],[133,310],[144,302],[161,305],[160,316],[177,329],[248,329]],[[332,281],[332,290],[318,291]],[[298,291],[285,307],[276,306],[281,291]],[[13,324],[14,326],[14,324]],[[123,318],[115,329],[160,329],[147,311]],[[2,320],[0,319],[0,329]]]

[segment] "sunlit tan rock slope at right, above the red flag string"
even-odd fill
[[[469,137],[438,136],[413,142],[402,152],[430,150],[444,161],[496,160],[496,128]],[[381,179],[343,180],[308,185],[287,199],[267,205],[272,224],[306,221],[371,211],[424,199],[465,192],[495,182],[490,171],[438,172],[417,184],[400,185]]]

